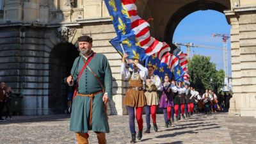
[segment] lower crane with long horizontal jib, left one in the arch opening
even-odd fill
[[[192,47],[201,47],[201,48],[204,48],[204,49],[217,49],[217,50],[222,50],[221,47],[214,47],[214,46],[211,46],[211,45],[199,45],[199,44],[194,44],[194,43],[186,43],[186,44],[183,44],[183,43],[177,43],[177,42],[174,42],[173,44],[175,44],[177,47],[179,47],[180,45],[183,45],[185,47],[187,47],[187,54],[188,54],[188,58],[190,59],[191,56],[190,56],[190,51],[191,51],[191,48]]]

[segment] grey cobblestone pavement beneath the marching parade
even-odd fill
[[[145,120],[145,115],[143,118]],[[151,129],[151,133],[143,134],[137,143],[256,143],[256,118],[229,117],[227,113],[193,115],[166,128],[163,115],[159,114],[157,125],[158,132]],[[109,126],[109,144],[129,143],[128,116],[109,116]],[[0,122],[0,143],[76,143],[75,135],[68,127],[68,115],[14,116],[12,121]],[[89,134],[90,143],[97,143],[95,134]]]

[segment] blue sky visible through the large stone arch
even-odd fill
[[[210,56],[211,62],[216,63],[217,70],[224,69],[223,63],[223,43],[221,37],[212,37],[212,33],[224,33],[230,35],[230,25],[228,25],[223,13],[206,10],[191,13],[185,17],[175,29],[173,42],[194,43],[197,45],[210,45],[220,47],[219,49],[204,49],[201,47],[191,48],[193,54]],[[228,48],[228,76],[231,75],[230,40],[227,41]],[[186,47],[181,47],[186,52]]]

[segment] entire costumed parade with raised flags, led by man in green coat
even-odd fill
[[[131,143],[152,132],[151,120],[154,132],[158,131],[157,108],[162,109],[164,117],[164,122],[158,123],[164,123],[165,127],[172,127],[172,123],[199,111],[205,114],[221,111],[218,97],[211,90],[200,95],[190,85],[187,54],[150,35],[150,24],[138,15],[136,0],[104,2],[117,35],[109,42],[122,56],[120,74],[129,83],[123,103],[129,115]],[[80,56],[65,79],[69,86],[76,83],[70,131],[76,132],[79,144],[88,143],[90,130],[97,134],[99,144],[106,144],[105,133],[109,132],[106,104],[112,97],[111,69],[105,56],[93,52],[90,36],[81,36],[78,42]],[[143,111],[147,125],[143,125]]]

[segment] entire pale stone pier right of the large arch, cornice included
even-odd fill
[[[256,2],[232,1],[225,12],[231,29],[233,98],[229,115],[256,115]],[[256,116],[255,116],[256,118]]]

